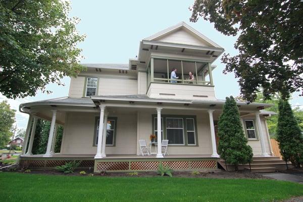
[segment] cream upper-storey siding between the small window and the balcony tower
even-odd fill
[[[99,78],[98,95],[137,94],[136,79]]]

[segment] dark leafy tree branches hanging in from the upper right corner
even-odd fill
[[[239,54],[224,54],[224,73],[234,72],[241,96],[253,102],[260,87],[266,99],[303,94],[303,3],[299,0],[196,0],[190,21],[214,23],[225,35],[238,36]]]

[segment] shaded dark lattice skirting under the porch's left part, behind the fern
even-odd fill
[[[20,161],[20,168],[53,168],[56,166],[65,165],[67,162],[74,160],[22,160]],[[81,161],[81,160],[76,160]],[[82,160],[80,166],[81,168],[93,168],[94,160]]]

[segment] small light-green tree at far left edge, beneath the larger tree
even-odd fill
[[[13,136],[12,127],[15,123],[15,112],[6,100],[0,103],[0,147],[6,146]]]

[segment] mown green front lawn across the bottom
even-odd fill
[[[264,179],[81,177],[0,173],[3,201],[276,201],[303,185]],[[16,186],[18,185],[18,191]]]

